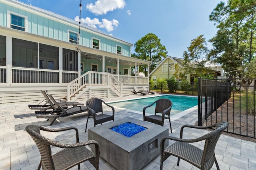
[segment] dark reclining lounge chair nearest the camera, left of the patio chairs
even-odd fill
[[[50,125],[52,125],[52,123],[54,123],[54,121],[59,118],[59,117],[66,117],[69,115],[74,115],[76,113],[82,113],[87,111],[86,106],[73,106],[73,107],[69,107],[64,109],[62,106],[60,106],[60,104],[58,102],[56,102],[56,100],[52,97],[52,95],[48,95],[50,100],[54,103],[53,110],[50,111],[49,113],[38,113],[35,112],[35,116],[36,118],[46,118],[47,121],[49,119],[51,119],[51,123]]]

